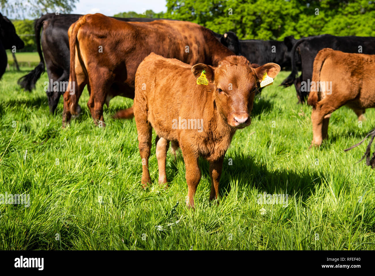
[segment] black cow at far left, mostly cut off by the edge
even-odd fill
[[[17,35],[16,29],[12,22],[0,13],[0,79],[3,76],[8,59],[6,56],[6,49],[22,49],[25,44]]]

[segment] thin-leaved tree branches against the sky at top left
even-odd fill
[[[3,15],[40,17],[47,12],[70,13],[78,0],[0,0]]]

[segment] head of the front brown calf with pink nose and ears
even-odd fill
[[[205,70],[208,89],[214,94],[214,105],[228,125],[240,129],[251,123],[255,90],[264,75],[275,78],[280,72],[276,63],[252,68],[243,56],[228,56],[216,68],[199,63],[192,67],[196,78]]]

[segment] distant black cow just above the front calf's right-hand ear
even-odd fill
[[[287,36],[284,41],[276,40],[240,40],[241,53],[250,62],[265,64],[274,62],[281,68],[290,70],[291,68],[291,50],[297,39],[294,36]]]

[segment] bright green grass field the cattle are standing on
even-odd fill
[[[168,154],[169,189],[157,185],[154,134],[153,186],[141,188],[135,122],[111,118],[132,100],[114,98],[104,108],[107,128],[98,128],[85,90],[81,116],[63,130],[62,99],[49,115],[46,73],[31,93],[17,86],[23,74],[7,71],[0,82],[0,193],[30,194],[30,207],[0,205],[1,249],[375,249],[374,171],[356,164],[365,145],[343,151],[372,130],[374,110],[359,128],[342,107],[331,117],[329,139],[309,149],[311,108],[296,104],[294,87],[278,86],[289,74],[281,72],[255,99],[252,124],[237,131],[226,153],[220,204],[208,201],[208,163],[201,160],[191,210],[181,154]],[[287,193],[288,206],[258,204],[264,192]]]

